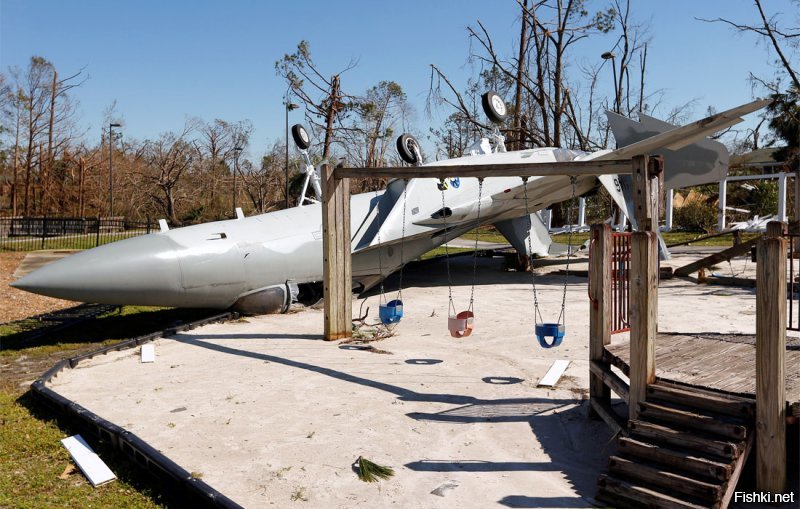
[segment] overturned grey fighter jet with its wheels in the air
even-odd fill
[[[495,127],[468,154],[436,165],[535,164],[665,158],[665,187],[718,182],[728,170],[724,145],[706,136],[741,122],[764,107],[757,100],[675,127],[646,115],[639,122],[608,113],[619,147],[582,152],[536,148],[507,152]],[[502,99],[484,94],[483,106],[496,125],[506,115]],[[292,129],[306,162],[303,196],[295,208],[252,217],[164,230],[83,251],[12,283],[33,293],[106,304],[233,308],[258,314],[285,311],[298,285],[322,280],[322,214],[319,173],[311,164],[308,135]],[[398,139],[401,157],[421,165],[419,146]],[[478,179],[396,179],[385,190],[351,198],[354,288],[368,289],[404,264],[480,225],[494,225],[518,252],[549,254],[551,240],[536,211],[603,186],[632,219],[630,176],[568,176]],[[306,197],[311,187],[316,200]],[[530,239],[528,236],[530,235]],[[402,249],[401,249],[402,244]],[[532,252],[531,252],[532,251]]]

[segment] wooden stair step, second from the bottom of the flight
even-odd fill
[[[619,456],[611,456],[608,459],[608,469],[617,477],[630,478],[644,485],[658,486],[669,492],[682,493],[707,502],[715,501],[722,492],[722,486],[719,484],[698,481],[660,466],[635,462]]]

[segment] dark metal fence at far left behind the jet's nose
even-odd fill
[[[89,249],[152,231],[156,223],[116,217],[2,217],[0,251]]]

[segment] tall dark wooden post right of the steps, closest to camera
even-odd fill
[[[773,227],[773,232],[775,227]],[[756,267],[756,483],[786,489],[786,240],[758,243]]]

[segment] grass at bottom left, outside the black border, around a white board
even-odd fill
[[[103,443],[92,441],[91,446],[117,481],[93,488],[80,473],[60,479],[72,464],[60,440],[81,433],[81,428],[68,418],[54,418],[52,409],[20,384],[37,378],[60,359],[211,313],[125,306],[31,341],[19,339],[24,336],[14,323],[0,327],[0,507],[181,507],[164,498],[128,458]]]

